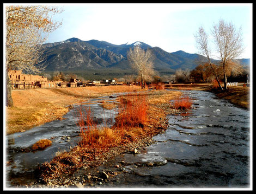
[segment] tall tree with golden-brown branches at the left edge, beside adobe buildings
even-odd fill
[[[56,30],[61,22],[53,22],[54,14],[62,9],[48,6],[6,6],[5,7],[5,74],[7,106],[13,106],[8,70],[23,70],[39,73],[41,67],[40,47],[47,36]]]

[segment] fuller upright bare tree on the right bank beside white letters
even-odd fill
[[[224,77],[224,89],[227,87],[227,63],[239,57],[243,52],[242,45],[242,29],[237,30],[233,23],[227,23],[220,20],[218,24],[214,25],[212,29],[212,35],[214,36],[214,43],[219,54],[218,58],[221,60]]]

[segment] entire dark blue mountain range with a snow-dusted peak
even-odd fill
[[[127,60],[127,51],[139,45],[143,49],[149,49],[154,54],[154,69],[159,71],[175,69],[194,69],[198,59],[204,58],[199,54],[190,54],[179,50],[168,53],[160,47],[137,41],[126,44],[112,44],[106,41],[89,40],[82,41],[78,38],[69,38],[65,41],[46,43],[42,45],[45,58],[45,71],[77,71],[87,69],[130,69]],[[249,59],[240,59],[242,64],[248,65]]]

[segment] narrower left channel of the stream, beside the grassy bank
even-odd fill
[[[25,132],[6,135],[5,147],[8,148],[6,150],[6,160],[10,162],[5,168],[5,174],[7,174],[6,186],[25,185],[35,181],[33,171],[38,165],[46,161],[50,162],[57,152],[69,151],[71,147],[77,145],[80,140],[80,129],[76,123],[80,117],[80,108],[90,108],[97,126],[113,125],[117,110],[103,109],[100,106],[100,101],[114,100],[118,95],[120,94],[112,95],[111,98],[103,96],[72,105],[73,108],[63,116],[63,120],[54,120]],[[50,139],[52,145],[41,151],[23,151],[40,139]]]

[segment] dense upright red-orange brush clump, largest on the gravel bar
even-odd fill
[[[121,99],[119,115],[115,119],[117,127],[143,127],[147,121],[147,100],[145,95],[127,94]]]

